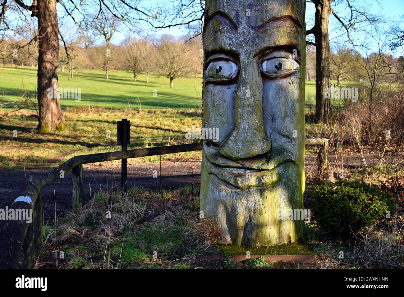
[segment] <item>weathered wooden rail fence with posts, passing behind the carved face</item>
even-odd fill
[[[306,139],[306,145],[320,145],[318,173],[324,174],[327,169],[328,139],[309,138]],[[30,220],[6,219],[0,222],[0,269],[34,268],[35,255],[39,253],[43,243],[41,190],[58,179],[61,173],[64,175],[72,170],[72,206],[73,209],[78,209],[82,206],[83,164],[196,150],[202,150],[202,142],[74,156],[41,177],[27,177],[21,187],[19,196],[8,207],[8,211],[12,210],[17,214],[23,210],[28,213],[31,212],[32,216]]]

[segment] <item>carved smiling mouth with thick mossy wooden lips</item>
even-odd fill
[[[283,166],[297,166],[292,153],[283,148],[272,150],[271,154],[231,160],[215,147],[204,145],[203,158],[209,164],[209,174],[240,189],[274,185]]]

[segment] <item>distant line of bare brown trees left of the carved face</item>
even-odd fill
[[[74,78],[78,69],[99,69],[108,74],[115,70],[126,70],[137,80],[140,73],[146,74],[149,82],[151,72],[169,79],[170,87],[173,80],[192,74],[196,77],[202,73],[203,57],[202,42],[195,39],[192,43],[186,36],[171,35],[145,36],[125,38],[120,44],[111,42],[117,23],[114,21],[98,21],[94,30],[103,36],[103,44],[95,44],[91,32],[75,34],[65,38],[59,46],[59,71],[68,71],[69,80]],[[19,38],[4,40],[0,43],[0,59],[4,65],[25,65],[36,67],[38,63],[38,44],[28,39]],[[28,44],[27,46],[25,46]]]

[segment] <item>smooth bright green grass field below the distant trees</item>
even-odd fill
[[[186,76],[174,80],[170,88],[169,80],[157,74],[149,76],[140,74],[133,81],[133,74],[127,71],[109,73],[109,80],[101,70],[76,70],[72,80],[67,79],[68,71],[59,72],[60,88],[81,88],[81,101],[61,99],[61,106],[101,106],[107,109],[166,109],[187,110],[200,108],[199,98],[202,95],[202,75]],[[6,66],[0,68],[0,100],[18,99],[23,90],[36,92],[36,68]],[[66,86],[68,85],[68,86]],[[157,91],[157,97],[153,94]],[[314,109],[316,82],[306,81],[306,110]],[[139,106],[140,103],[140,106]]]

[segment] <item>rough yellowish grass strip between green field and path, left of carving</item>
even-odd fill
[[[194,110],[105,110],[75,107],[65,112],[68,129],[38,134],[36,116],[28,110],[13,113],[10,120],[0,121],[0,170],[56,166],[81,154],[120,150],[116,144],[116,121],[128,118],[131,124],[129,149],[190,143],[185,129],[200,127],[200,114]],[[17,137],[13,137],[17,131]],[[110,131],[110,137],[108,134]],[[200,160],[200,152],[163,155],[162,159]],[[149,162],[159,156],[135,158],[131,162]]]

